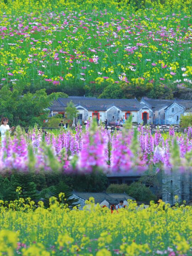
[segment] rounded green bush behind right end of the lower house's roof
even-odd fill
[[[133,182],[131,185],[126,184],[111,184],[107,188],[108,193],[127,193],[128,196],[135,198],[137,201],[150,202],[156,201],[157,197],[140,181]]]

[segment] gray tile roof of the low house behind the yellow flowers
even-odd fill
[[[73,194],[84,200],[89,200],[90,197],[94,197],[95,203],[101,203],[105,199],[111,204],[119,203],[120,200],[135,200],[135,198],[128,196],[126,193],[106,193],[105,191],[100,193],[92,193],[73,191]]]

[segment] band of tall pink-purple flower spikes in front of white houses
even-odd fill
[[[36,127],[23,133],[16,129],[13,138],[7,137],[0,148],[0,171],[61,171],[63,173],[103,172],[142,173],[156,171],[191,170],[192,128],[176,135],[173,128],[162,135],[156,130],[140,126],[130,129],[127,122],[122,131],[110,130],[89,123],[86,130],[60,130],[59,134],[39,131]]]

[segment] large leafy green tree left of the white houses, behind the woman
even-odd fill
[[[43,120],[48,118],[48,107],[57,97],[68,97],[63,93],[46,94],[45,89],[23,94],[23,87],[14,85],[3,86],[0,90],[0,117],[9,118],[11,125],[34,126],[37,123],[42,126]]]

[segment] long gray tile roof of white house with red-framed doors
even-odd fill
[[[88,98],[88,97],[75,97],[70,96],[69,98],[58,98],[53,101],[52,106],[49,107],[50,110],[59,111],[65,110],[67,103],[73,101],[75,106],[81,105],[87,110],[97,110],[106,111],[112,106],[116,106],[122,111],[138,111],[143,105],[138,102],[137,99],[98,99],[98,98]]]

